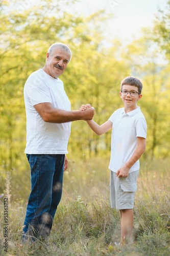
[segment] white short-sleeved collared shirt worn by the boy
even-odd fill
[[[147,138],[147,122],[139,107],[129,113],[125,113],[124,108],[118,109],[109,120],[113,123],[109,169],[116,173],[136,150],[137,137]],[[138,169],[139,160],[130,168],[129,173]]]

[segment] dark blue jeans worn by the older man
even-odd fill
[[[65,155],[27,155],[31,168],[31,193],[23,237],[46,238],[61,200]]]

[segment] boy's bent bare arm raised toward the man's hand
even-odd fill
[[[99,125],[98,123],[94,122],[94,120],[88,120],[86,122],[96,135],[102,135],[112,128],[112,122],[110,120],[106,121],[102,125]]]

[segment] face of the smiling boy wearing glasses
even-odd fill
[[[137,108],[137,101],[142,97],[141,94],[138,94],[138,88],[136,86],[129,86],[128,84],[124,84],[122,92],[119,92],[119,95],[124,102],[126,112],[135,110]]]

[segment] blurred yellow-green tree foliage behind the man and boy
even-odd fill
[[[13,197],[25,198],[30,189],[30,173],[24,154],[26,115],[23,86],[30,73],[42,68],[47,48],[62,41],[72,51],[72,59],[61,76],[72,110],[83,103],[95,108],[94,120],[104,123],[114,110],[122,107],[120,81],[134,75],[143,81],[143,97],[138,102],[148,123],[147,150],[144,157],[169,157],[169,65],[153,33],[143,36],[125,49],[119,41],[103,44],[103,28],[110,17],[100,11],[89,16],[69,13],[75,1],[1,2],[0,15],[0,173],[1,193],[6,173],[10,172]],[[67,8],[64,8],[67,5]],[[167,18],[167,16],[166,16]],[[166,19],[167,22],[167,19]],[[166,23],[165,22],[165,23]],[[160,58],[161,57],[161,58]],[[161,60],[161,63],[159,63]],[[111,132],[96,136],[86,122],[72,122],[68,143],[69,159],[81,160],[110,156]],[[15,196],[16,195],[16,196]]]

